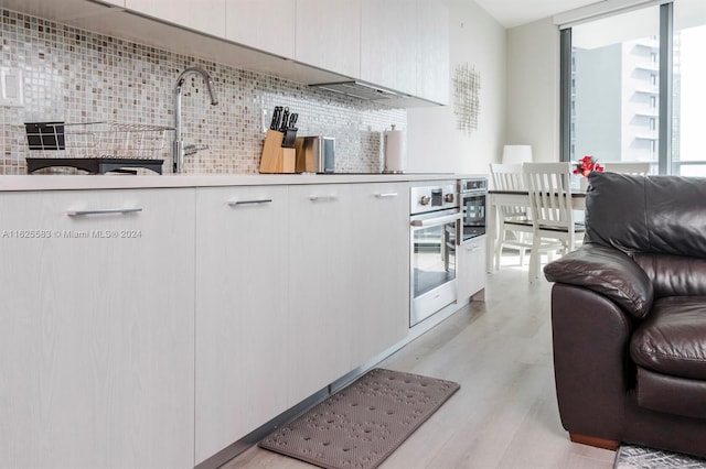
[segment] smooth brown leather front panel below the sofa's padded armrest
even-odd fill
[[[622,438],[625,402],[634,385],[632,330],[631,316],[610,298],[564,283],[552,287],[554,374],[568,432]]]

